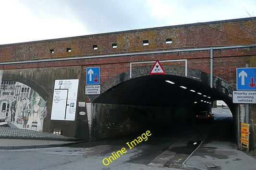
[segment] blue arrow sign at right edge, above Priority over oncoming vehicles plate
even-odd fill
[[[256,90],[256,68],[236,69],[237,90]]]

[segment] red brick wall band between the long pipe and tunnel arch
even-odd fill
[[[237,48],[229,50],[213,51],[213,74],[235,87],[236,84],[236,68],[245,67],[249,64],[251,67],[256,66],[256,47]],[[210,52],[209,50],[195,52],[179,52],[179,53],[155,53],[131,56],[110,56],[102,58],[89,59],[73,59],[66,61],[51,61],[26,64],[0,64],[0,69],[24,69],[24,68],[45,68],[58,66],[76,66],[83,65],[84,81],[86,77],[86,67],[100,66],[101,83],[104,83],[112,77],[128,72],[130,70],[130,62],[155,61],[155,60],[177,60],[187,59],[188,68],[201,70],[207,74],[210,73]],[[167,62],[166,65],[185,66],[184,62]],[[151,64],[134,64],[133,69]],[[85,82],[84,82],[85,83]]]

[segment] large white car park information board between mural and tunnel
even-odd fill
[[[55,80],[51,120],[75,120],[78,79]]]

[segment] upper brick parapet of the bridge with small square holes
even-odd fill
[[[256,18],[245,18],[6,44],[0,45],[0,58],[3,62],[195,46],[255,44],[255,25]],[[167,39],[171,39],[172,43],[166,43]],[[148,40],[148,45],[143,45],[143,40]],[[112,44],[116,44],[117,48],[112,48]],[[94,50],[93,45],[97,45],[98,49]]]

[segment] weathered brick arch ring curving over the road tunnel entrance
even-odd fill
[[[163,65],[163,67],[166,71],[166,74],[168,75],[182,76],[210,85],[210,74],[207,74],[200,70],[188,68],[187,76],[185,76],[185,67],[170,65]],[[149,75],[151,68],[152,66],[134,68],[132,70],[132,79],[140,76]],[[127,80],[130,80],[130,71],[116,75],[107,82],[101,84],[101,93],[104,93],[111,87],[118,85],[122,82],[125,82]],[[233,86],[229,85],[225,80],[217,76],[213,76],[213,88],[218,89],[218,91],[222,94],[222,97],[228,100],[231,100],[232,91],[235,90]],[[98,96],[99,95],[90,95],[87,97],[90,99],[90,101],[93,102]]]

